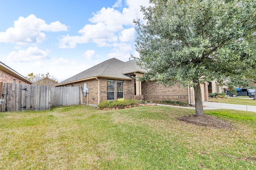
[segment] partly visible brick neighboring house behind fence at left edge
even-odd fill
[[[0,62],[0,82],[16,84],[34,84],[26,77],[20,75],[4,63]]]

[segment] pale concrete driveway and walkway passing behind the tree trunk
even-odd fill
[[[195,109],[194,107],[182,107],[182,106],[172,106],[172,105],[163,105],[163,104],[156,104],[158,106],[168,106],[168,107],[179,107],[179,108],[186,108],[186,109]],[[239,111],[250,111],[256,112],[256,106],[250,105],[235,105],[235,104],[228,104],[228,103],[217,103],[217,102],[203,102],[204,110],[209,109],[232,109],[232,110],[239,110]]]

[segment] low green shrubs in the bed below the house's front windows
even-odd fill
[[[129,100],[116,100],[116,101],[103,101],[98,104],[99,108],[116,108],[116,107],[126,107],[129,105],[136,105],[138,101],[134,99]]]

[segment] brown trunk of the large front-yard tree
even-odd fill
[[[196,116],[203,116],[204,109],[203,109],[200,83],[197,83],[197,85],[194,87],[194,91],[195,91]]]

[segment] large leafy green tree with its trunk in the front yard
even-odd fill
[[[194,87],[196,116],[204,115],[200,83],[243,75],[256,61],[255,0],[150,0],[134,20],[142,80]]]

